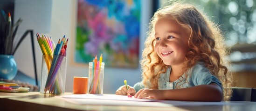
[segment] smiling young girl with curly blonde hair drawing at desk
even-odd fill
[[[187,101],[229,100],[231,73],[219,28],[194,6],[174,3],[155,12],[143,50],[143,80],[117,95]],[[137,93],[136,93],[137,92]]]

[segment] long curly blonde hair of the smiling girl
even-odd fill
[[[228,55],[229,49],[225,47],[223,34],[218,25],[211,22],[195,6],[189,4],[173,3],[154,13],[140,61],[145,87],[158,89],[159,74],[166,73],[169,67],[163,63],[154,50],[154,26],[161,18],[175,19],[190,36],[183,74],[186,74],[197,62],[204,62],[211,74],[221,81],[223,99],[228,101],[232,94],[232,76],[228,70],[230,62],[224,58]]]

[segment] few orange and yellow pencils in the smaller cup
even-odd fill
[[[95,93],[101,93],[100,89],[100,82],[99,77],[100,77],[100,71],[101,71],[101,64],[102,64],[102,54],[100,56],[99,61],[97,61],[97,56],[93,58],[92,60],[92,81],[90,84],[90,89],[89,93],[95,94]]]

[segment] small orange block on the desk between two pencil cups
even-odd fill
[[[88,92],[88,77],[74,77],[73,93],[85,94]]]

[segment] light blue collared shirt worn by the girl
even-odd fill
[[[187,80],[186,74],[182,74],[182,76],[178,80],[169,82],[171,70],[172,67],[169,67],[166,70],[166,73],[160,74],[158,80],[158,89],[167,90],[176,88],[187,88],[198,85],[208,85],[210,83],[216,83],[222,88],[220,80],[210,73],[210,71],[208,70],[208,68],[205,67],[203,62],[196,63],[196,65],[188,71]],[[149,82],[148,85],[150,86]],[[136,83],[133,87],[135,88],[136,92],[138,92],[138,90],[142,88],[145,88],[142,81]]]

